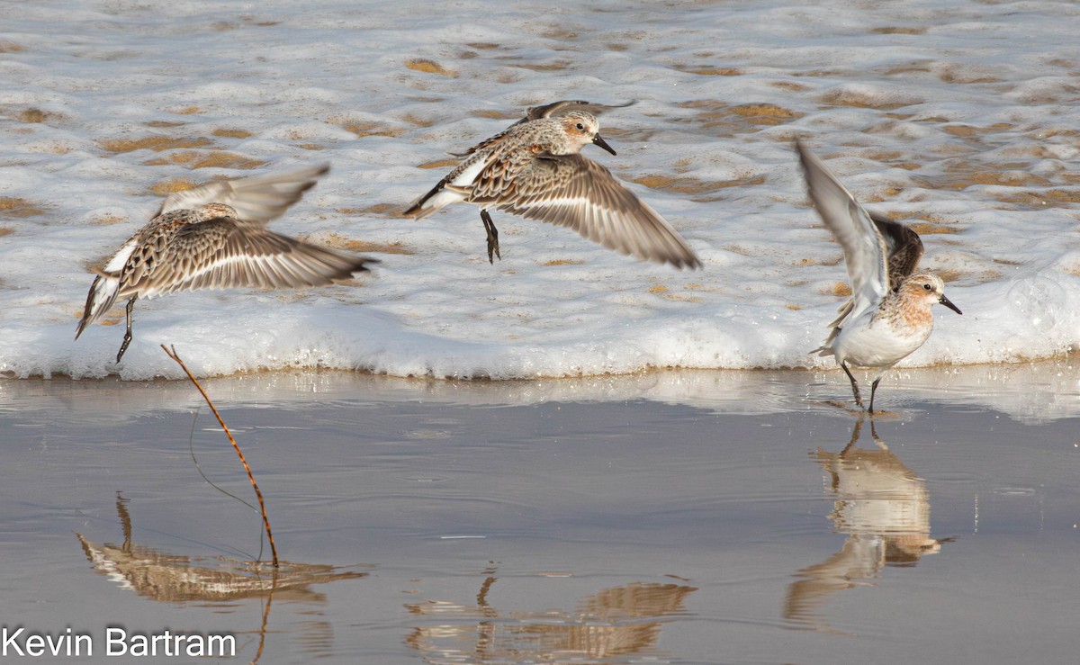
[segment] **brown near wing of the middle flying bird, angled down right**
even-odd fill
[[[619,254],[676,268],[701,267],[693,250],[663,217],[611,172],[580,154],[540,155],[513,178],[513,184],[503,195],[488,202],[528,219],[569,227]]]

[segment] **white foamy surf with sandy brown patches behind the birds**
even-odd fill
[[[41,0],[0,5],[0,372],[273,368],[537,378],[831,365],[848,277],[801,137],[909,225],[964,312],[909,366],[1080,344],[1080,8],[1069,2]],[[475,207],[401,212],[528,106],[605,113],[625,181],[703,262],[676,271]],[[381,259],[300,291],[177,294],[73,341],[93,269],[195,182],[327,162],[274,228]],[[272,322],[273,325],[267,325]]]

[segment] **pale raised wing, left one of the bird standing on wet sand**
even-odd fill
[[[796,146],[810,200],[843,248],[843,260],[851,280],[851,312],[859,316],[867,308],[876,308],[889,293],[885,240],[863,206],[825,164],[801,142]]]

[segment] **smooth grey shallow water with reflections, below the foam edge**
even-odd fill
[[[208,380],[275,585],[193,386],[2,381],[5,621],[266,663],[1068,662],[1069,370],[899,374],[850,447],[835,371]]]

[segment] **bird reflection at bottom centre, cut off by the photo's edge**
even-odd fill
[[[665,618],[686,614],[696,587],[635,582],[600,589],[575,611],[504,611],[487,602],[494,568],[476,605],[428,600],[405,606],[435,623],[414,628],[405,643],[426,663],[592,663],[631,654],[656,655]]]

